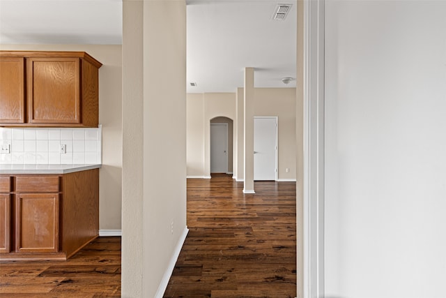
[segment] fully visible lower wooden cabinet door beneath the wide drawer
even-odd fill
[[[15,197],[15,251],[59,251],[59,194],[26,193]]]

